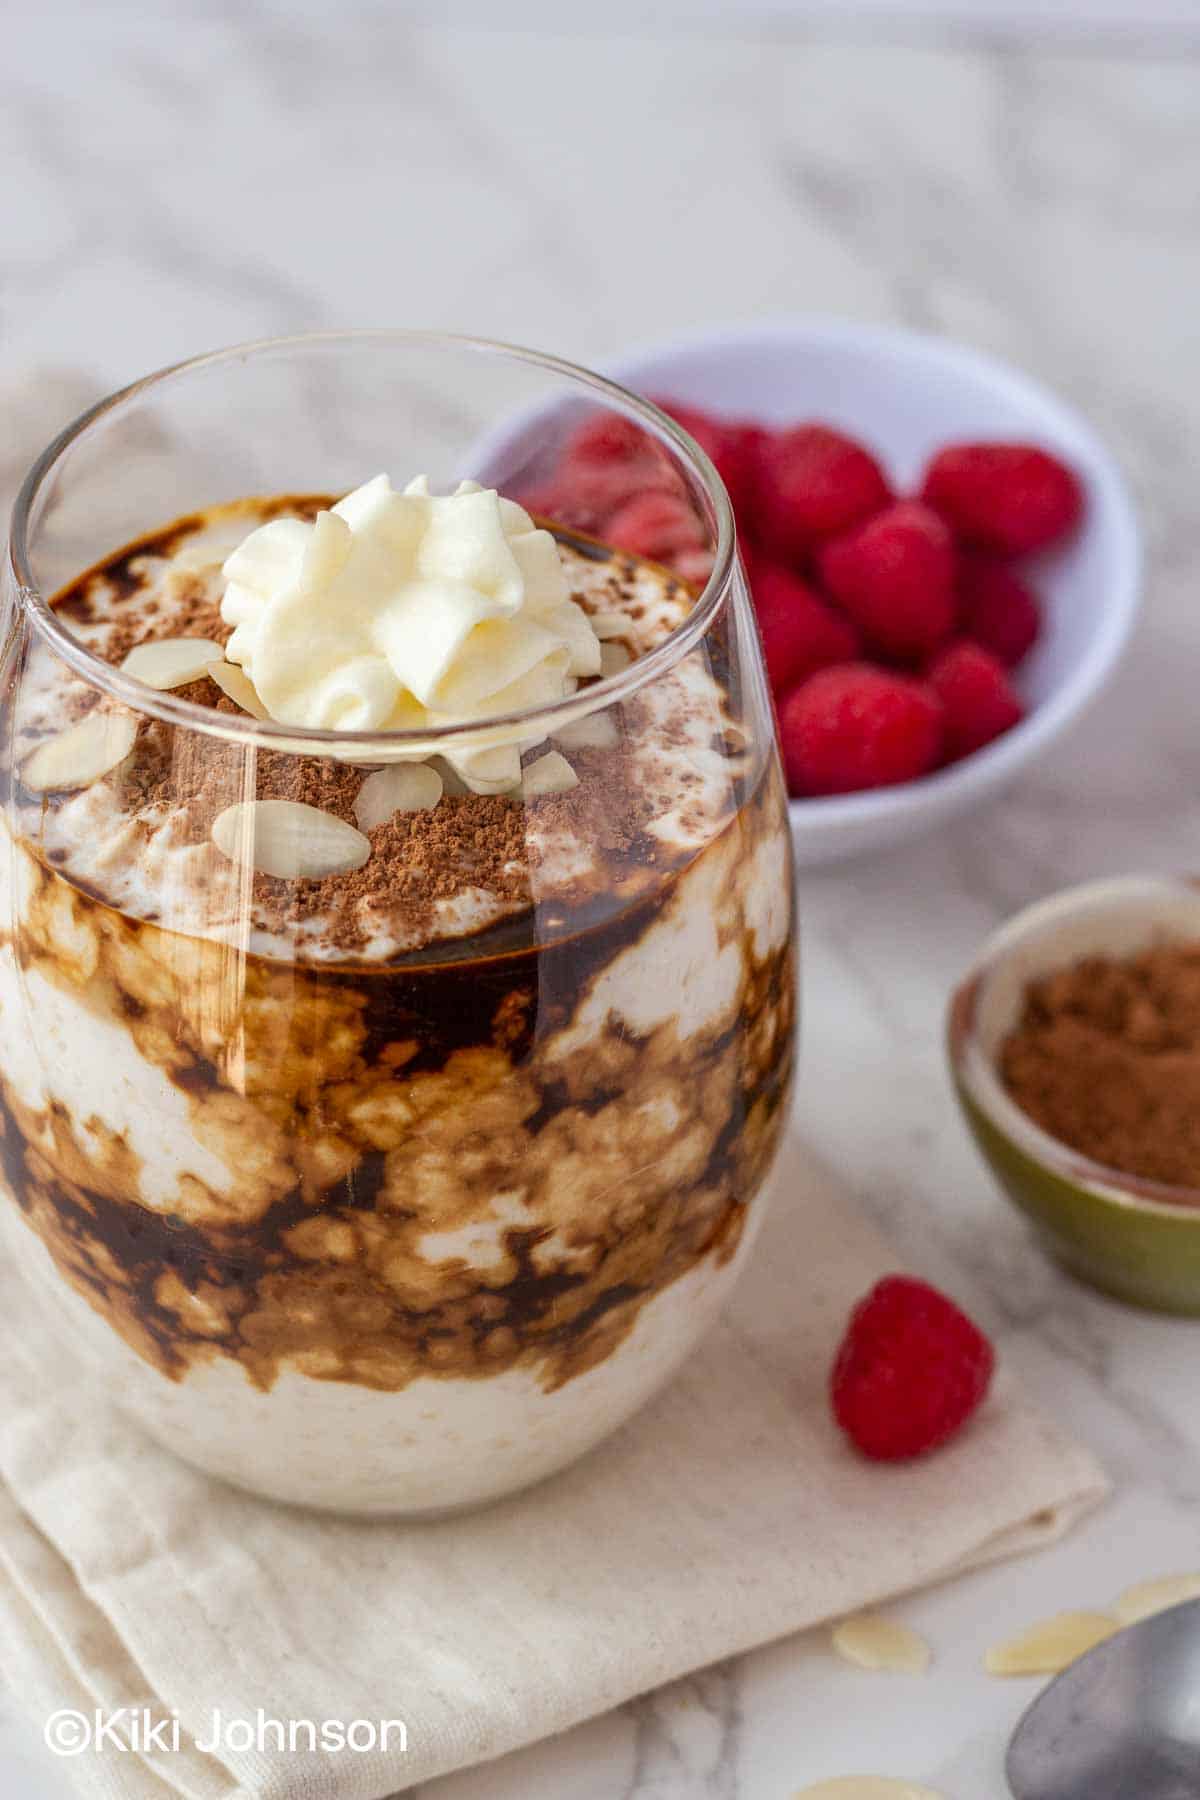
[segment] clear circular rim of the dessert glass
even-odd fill
[[[689,473],[698,479],[716,518],[712,569],[687,617],[682,619],[680,625],[676,625],[675,630],[662,639],[662,643],[655,644],[653,650],[648,650],[646,655],[630,662],[628,668],[619,670],[615,675],[601,677],[601,680],[592,682],[592,686],[579,689],[576,695],[567,695],[563,700],[545,700],[540,706],[525,707],[516,713],[495,713],[484,718],[471,718],[448,725],[421,727],[419,731],[331,731],[327,727],[288,725],[273,718],[257,720],[248,713],[218,713],[214,707],[200,706],[194,700],[180,700],[169,689],[149,688],[146,682],[137,680],[133,675],[126,675],[121,668],[106,662],[103,657],[95,655],[83,643],[79,643],[79,639],[58,617],[50,599],[40,590],[29,565],[29,520],[32,508],[47,477],[59,464],[72,445],[79,443],[94,425],[110,414],[119,412],[121,407],[128,405],[131,400],[153,389],[166,387],[173,380],[193,374],[198,369],[245,362],[246,358],[266,351],[318,349],[322,346],[365,347],[371,344],[412,349],[421,346],[432,349],[461,349],[473,355],[498,355],[513,362],[522,362],[558,374],[563,380],[590,391],[621,412],[633,412],[640,423],[649,427],[653,436],[666,439]],[[117,545],[117,549],[121,547]],[[529,349],[522,344],[506,344],[500,338],[471,337],[468,333],[455,331],[399,328],[304,331],[282,337],[250,338],[245,344],[230,344],[223,349],[203,351],[198,356],[185,356],[182,362],[167,364],[162,369],[155,369],[149,374],[130,382],[126,387],[115,389],[112,394],[97,400],[95,405],[88,407],[76,419],[72,419],[70,425],[50,439],[41,455],[34,459],[13,504],[9,529],[9,569],[23,616],[29,619],[38,637],[92,688],[99,688],[110,698],[119,700],[139,715],[157,718],[167,725],[176,725],[187,731],[200,731],[205,736],[290,754],[329,756],[340,751],[345,760],[351,760],[351,751],[354,752],[353,760],[371,760],[374,752],[387,756],[387,752],[412,752],[425,747],[432,756],[446,745],[479,747],[480,742],[511,742],[516,734],[525,736],[525,727],[529,725],[538,725],[542,734],[547,736],[552,729],[576,718],[583,718],[588,713],[599,711],[613,702],[628,700],[642,686],[671,670],[691,648],[694,648],[696,643],[700,643],[729,587],[732,563],[734,515],[725,484],[696,439],[691,437],[682,425],[676,425],[676,421],[653,401],[631,392],[619,382],[612,382],[608,376],[596,374],[592,369],[585,369],[583,365],[569,362],[563,356],[552,356],[545,351]]]

